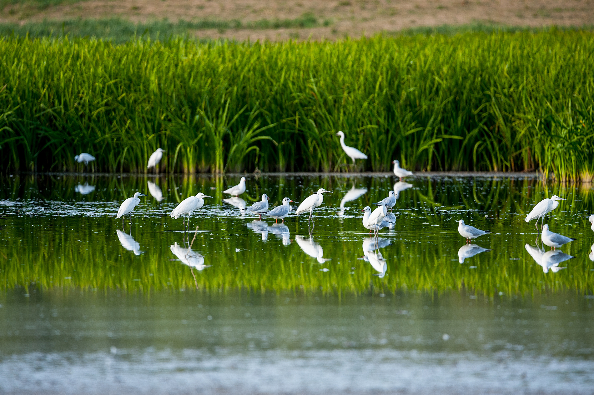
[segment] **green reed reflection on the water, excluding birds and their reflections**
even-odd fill
[[[283,244],[270,227],[257,232],[261,223],[254,216],[240,216],[236,207],[222,203],[222,190],[238,182],[238,176],[14,176],[2,178],[0,199],[7,218],[2,220],[0,288],[23,287],[29,294],[37,289],[127,289],[151,292],[169,289],[226,292],[230,289],[289,290],[296,293],[462,290],[486,295],[558,292],[574,289],[591,293],[594,267],[588,258],[594,233],[587,214],[594,211],[590,187],[547,185],[535,178],[410,178],[411,187],[400,191],[394,212],[394,230],[382,230],[391,244],[381,248],[387,271],[378,271],[360,258],[365,229],[361,208],[387,195],[396,181],[384,176],[260,176],[248,178],[242,195],[247,203],[266,192],[271,207],[283,197],[302,201],[317,188],[334,191],[314,211],[316,226],[311,236],[305,215],[286,218],[290,244]],[[148,182],[160,188],[163,201],[151,197]],[[78,185],[94,186],[83,195]],[[216,188],[216,191],[212,188]],[[352,188],[367,189],[354,201],[340,203]],[[138,243],[135,251],[125,249],[118,238],[122,223],[115,212],[124,198],[134,192],[149,197],[134,211],[132,226],[124,232]],[[179,201],[205,192],[213,196],[196,213],[191,226],[199,226],[192,251],[204,257],[210,267],[191,271],[172,253],[171,246],[194,237],[176,232],[181,220],[168,214]],[[154,190],[153,190],[154,192]],[[577,238],[564,246],[576,258],[561,264],[566,269],[544,273],[530,257],[525,244],[535,245],[533,223],[525,214],[544,197],[567,198],[545,222],[555,232]],[[95,203],[97,202],[97,203]],[[0,206],[0,207],[2,207]],[[295,206],[293,206],[295,207]],[[488,218],[485,218],[485,215]],[[457,251],[464,239],[457,233],[457,220],[491,235],[474,241],[492,249],[464,264]],[[268,225],[274,221],[267,220]],[[251,227],[248,227],[249,224]],[[278,229],[278,227],[277,227]],[[283,228],[284,229],[284,228]],[[330,260],[318,263],[306,254],[300,241],[323,249]],[[185,244],[187,246],[187,244]],[[548,248],[547,248],[548,249]],[[239,250],[239,251],[237,251]],[[136,255],[135,252],[140,253]],[[328,271],[321,271],[327,268]]]

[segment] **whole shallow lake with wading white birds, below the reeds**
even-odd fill
[[[0,178],[0,393],[593,393],[590,185],[249,175],[225,201],[240,177]],[[315,226],[240,208],[320,187]],[[374,242],[361,210],[390,190]],[[563,255],[524,222],[553,194]],[[467,247],[460,219],[491,233]]]

